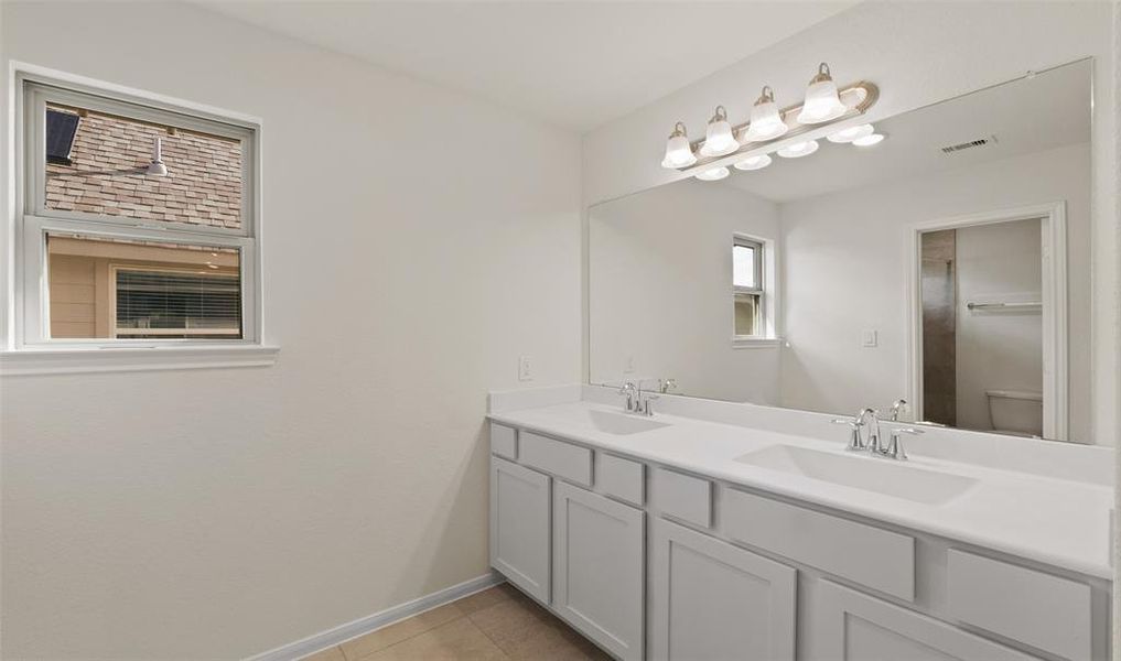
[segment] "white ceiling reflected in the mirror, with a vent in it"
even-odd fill
[[[1090,142],[1090,83],[1088,60],[1068,64],[889,118],[877,124],[887,139],[874,147],[819,140],[813,155],[775,156],[762,170],[733,169],[724,183],[781,203]],[[990,136],[994,145],[942,151]]]

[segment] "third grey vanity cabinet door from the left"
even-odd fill
[[[794,661],[797,570],[668,521],[651,529],[655,659]]]

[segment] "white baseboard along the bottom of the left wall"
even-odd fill
[[[484,590],[504,581],[506,578],[503,578],[501,574],[490,571],[489,574],[472,578],[471,580],[465,580],[458,585],[453,585],[452,587],[432,593],[430,595],[425,595],[420,598],[413,599],[411,602],[406,602],[391,608],[386,608],[380,613],[360,617],[353,622],[348,622],[346,624],[341,624],[334,629],[328,629],[327,631],[309,635],[304,640],[281,645],[274,650],[269,650],[268,652],[257,654],[256,657],[250,657],[247,661],[289,661],[291,659],[302,659],[308,654],[318,652],[319,650],[325,650],[332,645],[337,645],[360,635],[365,635],[371,631],[388,626],[418,613],[432,611],[437,606],[443,606],[444,604],[448,604],[456,599],[462,599],[470,594]]]

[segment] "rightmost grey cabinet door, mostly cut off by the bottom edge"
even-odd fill
[[[821,661],[1028,661],[1035,659],[944,622],[841,587],[815,590],[813,659]]]

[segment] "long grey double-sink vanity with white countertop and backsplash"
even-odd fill
[[[531,393],[491,398],[491,566],[620,659],[1109,658],[1108,448]]]

